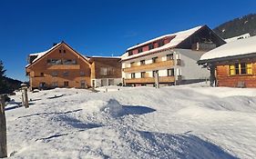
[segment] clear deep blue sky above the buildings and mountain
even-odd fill
[[[254,0],[1,0],[0,60],[27,80],[26,58],[62,40],[83,55],[121,55],[159,35],[256,13]]]

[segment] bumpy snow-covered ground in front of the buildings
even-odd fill
[[[256,158],[256,89],[54,89],[6,107],[10,158]],[[52,98],[56,96],[56,98]]]

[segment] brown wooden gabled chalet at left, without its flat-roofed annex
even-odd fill
[[[26,66],[31,88],[91,86],[90,64],[64,42]]]

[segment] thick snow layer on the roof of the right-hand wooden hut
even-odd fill
[[[200,57],[200,60],[209,60],[221,57],[230,57],[235,55],[248,55],[256,53],[256,36],[251,36],[245,39],[230,42],[221,45],[216,49],[207,52]]]

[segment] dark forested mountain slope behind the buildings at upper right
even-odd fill
[[[215,33],[217,33],[217,35],[220,35],[220,37],[224,39],[247,33],[249,33],[251,36],[256,35],[256,14],[235,18],[229,22],[217,26],[213,30]]]

